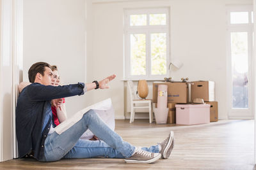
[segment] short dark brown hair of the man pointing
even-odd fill
[[[28,71],[29,82],[35,82],[37,73],[40,73],[42,74],[42,76],[44,76],[45,67],[49,67],[51,69],[51,65],[47,62],[36,62],[35,64],[33,64]]]

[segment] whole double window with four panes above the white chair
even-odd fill
[[[125,79],[157,80],[167,76],[167,8],[125,10]]]

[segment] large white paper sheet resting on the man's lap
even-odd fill
[[[72,125],[76,124],[81,118],[83,117],[84,113],[86,113],[89,110],[94,110],[100,118],[114,131],[115,129],[115,111],[112,106],[111,99],[108,98],[104,101],[101,101],[99,103],[93,104],[92,106],[88,106],[87,108],[84,108],[83,110],[78,111],[73,117],[68,118],[64,122],[62,122],[60,125],[54,128],[54,130],[61,134],[62,132],[65,132],[67,129],[72,127]],[[92,132],[86,131],[83,134],[84,139],[90,139],[90,136],[93,136]],[[92,138],[92,137],[91,137]]]

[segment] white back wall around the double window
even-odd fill
[[[123,16],[125,8],[170,7],[171,57],[183,62],[174,80],[216,82],[219,118],[227,118],[226,9],[227,4],[252,4],[252,0],[170,0],[93,3],[93,57],[91,76],[116,73],[111,89],[97,92],[94,101],[111,96],[116,117],[124,114]]]

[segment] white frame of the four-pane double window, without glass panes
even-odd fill
[[[168,76],[170,62],[170,10],[168,8],[140,8],[124,10],[124,80],[163,80]],[[166,25],[149,25],[149,15],[166,13]],[[147,14],[147,25],[130,25],[130,15]],[[151,33],[166,33],[166,74],[151,74]],[[131,34],[145,34],[146,38],[146,74],[131,75]]]

